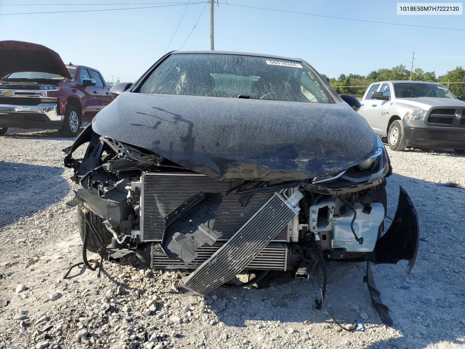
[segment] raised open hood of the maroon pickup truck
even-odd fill
[[[55,51],[31,42],[0,41],[0,77],[17,72],[40,72],[71,75]]]

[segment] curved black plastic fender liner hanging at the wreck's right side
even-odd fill
[[[373,252],[365,254],[368,262],[396,264],[402,259],[408,262],[404,275],[410,275],[417,259],[420,242],[418,214],[404,188],[399,187],[399,203],[394,221],[386,233],[376,242]]]

